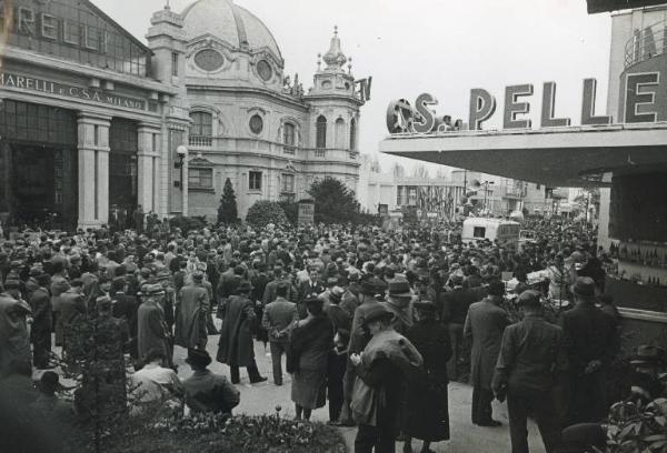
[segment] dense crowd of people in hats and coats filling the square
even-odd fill
[[[584,452],[610,403],[605,376],[619,344],[617,313],[603,296],[607,259],[586,225],[538,219],[526,228],[535,240],[521,250],[465,244],[456,228],[183,232],[165,223],[24,233],[0,242],[0,380],[76,360],[77,332],[102,322],[113,333],[101,341],[118,360],[107,381],[125,382],[125,355],[133,365],[132,385],[118,392],[139,387],[140,403],[169,402],[179,416],[231,414],[241,368],[251,384],[267,381],[255,359],[261,342],[271,385],[283,384],[286,358],[297,419],[328,400],[331,424],[358,426],[356,452],[394,452],[401,439],[407,453],[417,439],[427,453],[450,437],[448,382],[465,374],[469,343],[474,424],[499,426],[491,402],[507,399],[512,452],[528,452],[529,415],[547,452]],[[539,270],[549,275],[544,293],[527,282]],[[511,298],[507,275],[518,280]],[[544,316],[555,301],[557,323]],[[185,381],[175,345],[188,351]],[[229,366],[229,380],[209,370],[212,360]],[[59,374],[40,375],[36,404],[62,412]],[[74,412],[90,404],[74,392]]]

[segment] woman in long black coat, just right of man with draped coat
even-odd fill
[[[446,326],[436,321],[432,302],[415,302],[418,322],[407,333],[424,358],[424,370],[408,384],[404,452],[412,451],[411,437],[424,441],[421,452],[430,452],[431,442],[449,440],[449,395],[447,362],[451,343]]]

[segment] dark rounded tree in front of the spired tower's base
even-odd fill
[[[315,200],[315,221],[323,223],[356,222],[359,203],[355,191],[341,181],[327,177],[316,180],[308,194]]]

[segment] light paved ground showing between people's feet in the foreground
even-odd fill
[[[218,350],[218,336],[209,338],[208,351],[212,358],[216,356]],[[250,385],[248,375],[245,370],[241,370],[241,383],[237,385],[241,392],[241,403],[236,410],[236,413],[246,413],[251,415],[275,413],[275,407],[282,407],[283,416],[293,416],[293,404],[290,400],[291,379],[289,375],[283,376],[283,385],[276,386],[272,383],[271,359],[266,355],[263,345],[255,343],[255,354],[260,373],[269,378],[267,382],[261,384]],[[185,363],[187,351],[178,348],[175,351],[175,362],[179,365],[179,376],[188,378],[191,373],[190,368]],[[285,369],[285,363],[283,363]],[[229,368],[221,363],[215,362],[211,370],[218,373],[223,373],[229,378]],[[440,442],[431,446],[436,452],[457,452],[457,453],[501,453],[510,452],[509,432],[507,427],[507,407],[505,404],[494,404],[494,417],[502,422],[501,427],[480,427],[470,423],[470,402],[472,400],[472,390],[470,386],[459,383],[449,385],[449,417],[451,426],[451,441]],[[319,409],[312,413],[313,420],[327,421],[329,412],[327,407]],[[346,441],[350,446],[350,452],[354,451],[354,440],[356,429],[342,430]],[[536,426],[529,426],[529,443],[530,451],[535,453],[544,453],[539,434]],[[398,445],[398,452],[401,452],[401,445]],[[419,451],[420,443],[415,442],[415,451]]]

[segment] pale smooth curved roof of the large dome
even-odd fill
[[[189,40],[211,34],[233,49],[266,50],[282,66],[273,34],[255,14],[232,0],[198,0],[181,13]]]

